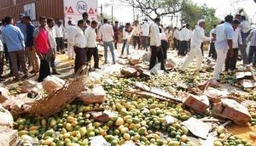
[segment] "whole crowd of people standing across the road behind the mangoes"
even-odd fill
[[[84,65],[89,65],[94,58],[94,69],[99,67],[99,53],[97,42],[102,42],[104,48],[104,64],[108,64],[108,48],[112,55],[113,64],[116,63],[114,48],[119,48],[120,36],[123,44],[120,48],[119,58],[129,55],[129,48],[141,49],[148,52],[151,57],[149,70],[158,62],[160,69],[165,68],[167,49],[177,50],[180,57],[186,56],[180,72],[186,70],[189,64],[196,59],[196,70],[201,71],[204,57],[204,42],[209,42],[208,57],[216,60],[214,78],[219,80],[219,74],[225,65],[225,71],[236,70],[238,53],[241,53],[243,65],[253,64],[256,67],[256,30],[251,29],[249,22],[241,14],[227,15],[224,21],[213,25],[209,37],[205,35],[206,20],[198,20],[192,31],[189,24],[177,27],[164,28],[160,25],[160,18],[153,23],[144,19],[141,23],[136,20],[132,24],[127,22],[120,29],[119,22],[109,24],[107,19],[98,26],[95,20],[88,20],[88,14],[82,14],[81,20],[76,24],[69,20],[65,28],[60,20],[52,18],[39,18],[39,26],[32,25],[31,18],[20,14],[20,20],[15,22],[11,17],[5,17],[1,25],[0,37],[0,80],[3,81],[3,64],[9,66],[10,75],[15,81],[20,81],[19,70],[22,70],[26,79],[29,74],[37,74],[38,81],[43,81],[50,74],[60,75],[55,67],[55,56],[65,52],[65,39],[67,39],[68,59],[74,59],[74,72]],[[192,26],[194,27],[194,26]],[[173,42],[173,43],[172,43]],[[247,54],[247,42],[250,43]],[[5,60],[5,61],[4,61]],[[38,61],[39,60],[39,61]],[[29,72],[28,67],[32,68]],[[52,71],[50,71],[50,68]]]

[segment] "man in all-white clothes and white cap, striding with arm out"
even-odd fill
[[[190,43],[190,52],[187,59],[185,59],[183,65],[181,66],[180,70],[184,71],[189,66],[189,64],[196,59],[196,70],[201,70],[201,63],[202,63],[202,53],[201,53],[201,42],[203,41],[210,41],[210,37],[205,36],[205,27],[206,21],[205,20],[198,20],[197,25],[195,26],[195,30],[192,32],[191,36],[191,43]]]

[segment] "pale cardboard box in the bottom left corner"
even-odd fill
[[[16,146],[19,142],[18,131],[0,126],[0,145]]]

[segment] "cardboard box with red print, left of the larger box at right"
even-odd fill
[[[207,96],[195,96],[189,93],[183,93],[183,104],[199,113],[204,113],[209,107],[209,99]]]

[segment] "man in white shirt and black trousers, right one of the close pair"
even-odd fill
[[[92,20],[90,26],[84,31],[86,40],[86,63],[90,62],[91,57],[94,59],[94,69],[99,69],[99,54],[96,46],[96,26],[97,22]]]

